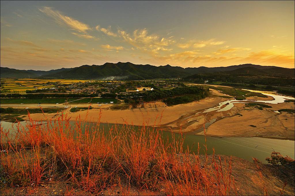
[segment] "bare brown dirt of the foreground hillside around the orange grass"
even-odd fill
[[[212,156],[209,155],[209,159]],[[227,162],[230,157],[220,155],[224,166],[224,159]],[[263,187],[266,187],[267,195],[281,195],[281,190],[286,182],[282,195],[294,195],[294,167],[269,165],[249,162],[237,157],[232,158],[232,177],[235,179],[235,188],[232,188],[230,195],[264,195]],[[218,155],[215,155],[218,161]],[[200,161],[205,161],[205,156],[200,155]],[[259,175],[261,171],[262,178]],[[234,190],[235,189],[235,190]],[[1,183],[1,195],[93,195],[91,192],[73,187],[65,181],[48,181],[40,186],[32,185],[27,187],[10,187]],[[140,189],[131,185],[130,190],[123,192],[119,186],[103,190],[101,195],[167,195],[165,190]]]

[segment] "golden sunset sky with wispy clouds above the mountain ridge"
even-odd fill
[[[1,67],[294,68],[294,1],[1,1]]]

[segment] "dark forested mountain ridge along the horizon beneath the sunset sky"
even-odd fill
[[[105,63],[103,65],[82,65],[74,68],[52,69],[50,71],[19,70],[1,67],[1,78],[56,78],[56,79],[160,79],[183,78],[194,74],[223,72],[227,74],[280,75],[294,77],[294,69],[261,66],[254,64],[228,67],[177,67],[169,64],[153,66],[130,62]]]

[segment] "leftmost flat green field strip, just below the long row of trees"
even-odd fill
[[[77,99],[77,98],[75,98]],[[68,99],[75,100],[74,98]],[[64,103],[67,98],[44,98],[44,99],[21,99],[21,98],[9,98],[9,99],[0,99],[1,104],[38,104],[38,103]]]

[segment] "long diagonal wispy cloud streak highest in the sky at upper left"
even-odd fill
[[[89,25],[84,24],[78,20],[75,20],[69,16],[65,16],[60,11],[53,10],[50,7],[43,7],[43,8],[40,8],[39,10],[42,11],[44,14],[55,19],[55,21],[58,24],[63,26],[69,26],[72,29],[75,29],[76,31],[85,33],[87,30],[91,29]]]

